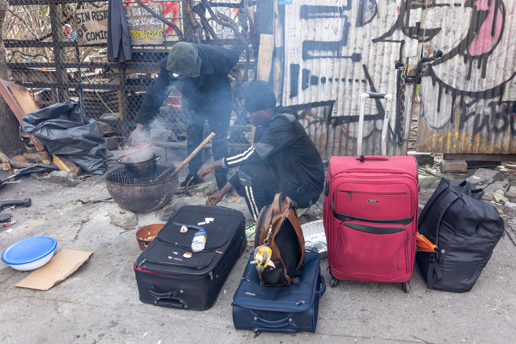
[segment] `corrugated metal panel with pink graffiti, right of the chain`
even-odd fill
[[[424,51],[444,56],[422,78],[417,148],[516,153],[516,2],[433,1]]]

